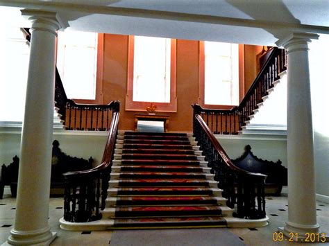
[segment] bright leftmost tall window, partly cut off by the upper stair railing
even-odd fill
[[[97,33],[58,33],[57,67],[68,98],[96,99]]]

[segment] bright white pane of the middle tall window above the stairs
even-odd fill
[[[171,39],[135,36],[133,100],[170,102]]]

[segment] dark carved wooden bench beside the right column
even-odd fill
[[[235,166],[253,173],[264,173],[267,175],[265,180],[265,194],[280,195],[282,186],[287,185],[287,168],[282,166],[280,160],[273,162],[262,160],[253,155],[251,146],[244,147],[244,154],[233,159]]]

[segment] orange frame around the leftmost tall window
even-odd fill
[[[95,85],[95,99],[79,99],[69,98],[76,103],[83,104],[103,104],[103,60],[104,60],[104,33],[97,33],[97,60],[96,60],[96,85]],[[56,39],[56,49],[58,39]],[[57,64],[57,51],[56,51]]]

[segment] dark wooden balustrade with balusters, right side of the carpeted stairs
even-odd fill
[[[222,195],[227,199],[227,206],[236,208],[233,216],[250,219],[265,218],[264,184],[267,175],[251,173],[235,166],[203,121],[200,105],[192,105],[192,107],[194,108],[194,137],[211,168],[210,172],[214,174],[214,180],[223,190]]]

